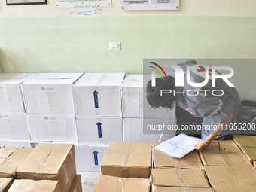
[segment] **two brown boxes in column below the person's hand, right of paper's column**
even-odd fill
[[[200,157],[215,191],[254,191],[256,171],[233,141],[213,141]]]

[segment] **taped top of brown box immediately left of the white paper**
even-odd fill
[[[151,143],[111,142],[101,166],[151,166]]]

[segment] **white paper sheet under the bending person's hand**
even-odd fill
[[[192,147],[191,145],[194,145],[200,140],[201,139],[196,137],[187,136],[186,134],[181,133],[178,136],[166,140],[166,142],[162,142],[154,148],[170,157],[181,158],[190,151],[193,151],[195,147]]]

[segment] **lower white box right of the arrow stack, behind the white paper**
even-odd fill
[[[144,119],[145,120],[145,119]],[[157,124],[176,124],[176,120],[169,119],[149,119],[150,122]],[[123,118],[123,141],[124,142],[154,142],[166,141],[174,137],[175,130],[171,130],[168,134],[144,134],[143,133],[143,118]]]

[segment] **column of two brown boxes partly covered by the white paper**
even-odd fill
[[[154,147],[161,142],[154,142]],[[152,192],[213,191],[197,151],[178,159],[154,149],[151,169]]]

